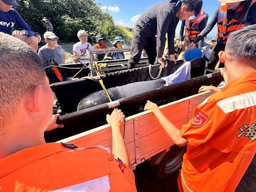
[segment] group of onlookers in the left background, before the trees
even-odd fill
[[[48,20],[47,17],[42,18],[43,26],[46,29],[46,32],[43,34],[43,40],[39,32],[34,32],[23,20],[20,14],[12,8],[12,6],[17,6],[18,3],[15,0],[0,0],[0,31],[10,34],[16,38],[21,39],[36,50],[43,61],[46,61],[49,58],[54,58],[58,64],[63,64],[65,62],[66,54],[60,45],[57,44],[58,37],[53,33],[53,26]],[[14,30],[14,25],[17,24],[22,30]],[[74,56],[87,56],[89,57],[88,49],[99,49],[99,48],[108,48],[104,44],[104,37],[99,35],[97,37],[96,44],[92,45],[87,42],[87,33],[85,30],[79,30],[77,32],[77,37],[79,42],[73,45],[73,55]],[[113,46],[120,48],[124,40],[120,36],[116,36],[113,40]],[[99,61],[104,59],[105,54],[95,54],[92,55],[92,60]],[[112,59],[123,59],[123,52],[114,53],[110,56]],[[88,62],[88,59],[81,59],[81,62]],[[77,62],[77,60],[74,60]]]

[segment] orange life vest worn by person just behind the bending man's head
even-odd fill
[[[198,34],[200,33],[199,24],[206,17],[208,17],[208,14],[203,10],[201,10],[196,20],[193,22],[192,26],[190,26],[191,21],[186,19],[185,21],[186,40],[194,40],[198,36]]]

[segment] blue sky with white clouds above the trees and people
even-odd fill
[[[112,15],[116,24],[127,27],[133,27],[138,15],[150,6],[162,1],[164,0],[96,0],[104,11],[108,11]],[[203,0],[202,9],[209,14],[208,21],[219,4],[217,0]],[[179,33],[180,23],[176,28],[177,34]],[[208,35],[215,36],[216,33],[217,28],[215,26]]]

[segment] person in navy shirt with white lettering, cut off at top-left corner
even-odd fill
[[[12,6],[16,5],[18,3],[15,0],[0,0],[0,32],[15,36],[29,44],[34,50],[37,50],[37,40],[33,36],[34,32],[25,23],[20,14],[12,8]],[[15,23],[23,30],[13,30]]]

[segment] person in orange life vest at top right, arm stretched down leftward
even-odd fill
[[[188,48],[195,47],[217,23],[218,40],[211,52],[208,68],[214,69],[218,52],[224,50],[230,32],[247,25],[256,24],[256,0],[218,0],[221,5],[215,10],[210,22]],[[220,65],[223,67],[223,63]]]

